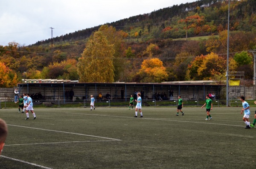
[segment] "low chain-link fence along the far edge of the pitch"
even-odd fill
[[[128,107],[130,100],[96,100],[96,107]],[[253,100],[247,100],[250,106],[253,106]],[[183,106],[203,106],[205,100],[183,100]],[[142,106],[170,106],[175,107],[178,104],[178,100],[143,100]],[[226,100],[212,100],[213,106],[226,106]],[[230,100],[230,106],[236,107],[241,106],[240,100]],[[16,108],[19,106],[19,103],[10,102],[9,100],[0,100],[0,109],[2,108]],[[49,108],[58,108],[58,107],[90,107],[90,99],[84,100],[36,100],[33,101],[34,107],[49,107]],[[134,107],[136,102],[134,103]]]

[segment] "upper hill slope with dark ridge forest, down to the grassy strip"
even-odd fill
[[[253,26],[256,26],[256,21],[251,18],[256,12],[256,0],[231,0],[230,25],[231,30],[251,31]],[[190,13],[196,12],[199,16],[191,16]],[[204,20],[197,24],[204,24],[203,29],[198,29],[197,25],[189,28],[188,37],[209,35],[218,33],[220,30],[227,29],[227,0],[197,0],[192,3],[174,5],[157,11],[152,11],[148,14],[140,14],[137,16],[125,18],[112,23],[106,23],[108,26],[113,26],[116,30],[123,30],[129,33],[133,38],[134,31],[137,30],[138,35],[144,40],[150,38],[161,37],[180,38],[186,37],[184,27],[187,24],[192,24],[194,20]],[[188,17],[191,16],[191,17]],[[185,20],[180,20],[185,19]],[[183,22],[183,23],[182,23]],[[102,23],[103,24],[103,23]],[[92,32],[99,29],[101,25],[93,28],[78,30],[73,33],[54,37],[54,42],[66,42],[74,40],[83,40],[90,37]],[[147,29],[148,33],[144,33]],[[41,40],[34,45],[42,45],[51,43],[51,39]]]

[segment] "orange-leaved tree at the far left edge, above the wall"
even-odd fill
[[[17,74],[0,62],[0,87],[13,87],[18,82]]]

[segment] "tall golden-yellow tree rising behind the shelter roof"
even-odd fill
[[[114,46],[109,44],[107,37],[101,32],[94,32],[77,65],[80,82],[114,81],[113,55]]]

